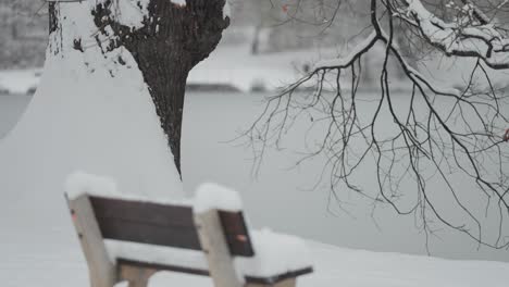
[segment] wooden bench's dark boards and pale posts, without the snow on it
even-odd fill
[[[112,287],[127,280],[131,287],[146,287],[159,271],[211,276],[218,287],[296,286],[299,275],[312,267],[271,276],[238,275],[236,257],[252,258],[251,244],[241,212],[209,210],[195,214],[190,205],[171,205],[142,201],[80,195],[67,198],[73,223],[88,263],[92,287]],[[160,263],[146,259],[111,259],[104,239],[195,250],[204,253],[204,267],[181,262]]]

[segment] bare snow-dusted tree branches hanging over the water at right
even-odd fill
[[[299,13],[305,2],[293,3],[289,11],[295,12],[288,21],[306,18]],[[327,10],[332,11],[324,21],[327,27],[334,27],[331,23],[340,7],[350,2],[335,3],[337,10]],[[310,73],[270,97],[246,132],[256,164],[259,166],[269,146],[283,146],[296,122],[308,122],[308,134],[322,135],[322,140],[307,142],[307,155],[297,164],[325,157],[320,180],[330,183],[338,204],[349,189],[374,204],[415,216],[426,238],[434,233],[433,223],[439,222],[480,246],[508,247],[508,95],[492,77],[494,71],[509,68],[507,17],[501,16],[508,5],[504,0],[357,1],[355,7],[369,15],[358,45],[339,59],[316,63]],[[364,66],[363,58],[373,52],[381,59],[380,65]],[[474,62],[464,87],[443,87],[414,67],[432,52]],[[359,92],[367,70],[377,73],[374,99],[362,99]],[[398,104],[397,74],[410,88]],[[310,85],[312,92],[306,92]],[[359,113],[367,101],[374,102],[374,108]],[[383,114],[390,123],[381,121]],[[362,187],[365,171],[373,172],[377,190]],[[439,183],[439,190],[434,190],[433,180]],[[401,190],[404,182],[412,182],[414,189]],[[464,201],[467,183],[485,209]],[[449,194],[450,202],[434,200],[436,192]],[[448,209],[458,210],[460,219],[446,215]],[[494,225],[497,235],[485,237],[485,228]]]

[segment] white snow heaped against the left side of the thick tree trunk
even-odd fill
[[[9,212],[23,207],[34,213],[27,228],[45,225],[35,215],[39,210],[47,217],[67,213],[65,205],[46,210],[41,202],[59,202],[63,180],[78,170],[111,176],[122,194],[184,197],[167,137],[135,59],[123,48],[103,54],[90,36],[97,26],[89,11],[88,1],[61,7],[62,29],[50,35],[37,92],[0,140],[0,189],[16,199],[17,207],[12,204]],[[74,49],[76,38],[89,48]],[[120,58],[125,65],[116,64]]]

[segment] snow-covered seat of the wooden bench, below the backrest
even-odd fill
[[[308,259],[306,248],[291,240],[287,235],[275,234],[270,230],[251,230],[254,250],[257,244],[265,245],[268,252],[259,252],[257,257],[236,257],[234,264],[239,277],[246,283],[260,285],[274,285],[288,278],[294,278],[312,272],[310,265],[298,262]],[[207,257],[202,251],[163,246],[150,246],[119,240],[104,240],[107,251],[113,261],[116,261],[119,274],[122,279],[129,279],[128,271],[145,269],[146,272],[172,271],[195,275],[210,276]],[[272,245],[272,247],[266,247]],[[297,245],[297,246],[296,246]],[[285,257],[290,258],[285,258]],[[281,262],[293,262],[291,265]],[[301,261],[301,260],[300,260]],[[274,266],[278,264],[280,266]],[[124,274],[124,275],[123,275]]]

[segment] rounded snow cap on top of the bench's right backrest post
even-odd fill
[[[203,213],[213,209],[237,212],[243,209],[243,201],[235,190],[216,184],[203,184],[197,189],[194,211]]]

